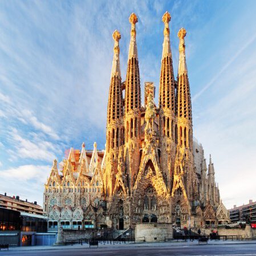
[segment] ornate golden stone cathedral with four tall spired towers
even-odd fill
[[[107,106],[104,151],[71,148],[54,160],[44,189],[48,227],[128,229],[141,222],[168,222],[178,227],[226,224],[210,158],[193,141],[192,105],[185,57],[186,30],[178,31],[178,75],[174,78],[170,50],[170,14],[162,17],[164,42],[159,106],[155,86],[145,82],[141,105],[137,17],[129,17],[131,41],[123,82],[119,31],[113,32],[113,63]],[[124,91],[124,94],[123,94]],[[124,99],[123,99],[123,95]]]

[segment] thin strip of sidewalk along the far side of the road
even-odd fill
[[[239,244],[256,244],[256,241],[253,240],[243,240],[243,241],[208,241],[208,245],[198,245],[198,241],[178,241],[173,240],[169,242],[158,242],[158,243],[147,243],[147,242],[141,242],[141,243],[115,243],[113,244],[107,244],[107,243],[99,243],[99,248],[116,248],[116,247],[157,247],[157,246],[209,246],[209,245],[239,245]],[[96,246],[92,246],[92,248],[95,248]],[[89,245],[87,243],[83,243],[83,245],[63,245],[63,246],[24,246],[24,247],[10,247],[10,251],[26,251],[26,250],[68,250],[68,249],[89,249]],[[95,248],[96,249],[96,248]]]

